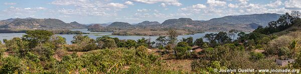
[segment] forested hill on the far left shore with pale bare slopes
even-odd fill
[[[71,22],[65,23],[59,19],[11,18],[0,21],[0,29],[79,29],[85,25]]]

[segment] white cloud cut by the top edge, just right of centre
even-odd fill
[[[154,4],[161,2],[161,6],[165,7],[167,5],[174,5],[174,6],[181,6],[182,3],[180,3],[178,0],[132,0],[135,2],[140,2],[140,3],[147,3],[147,4]]]

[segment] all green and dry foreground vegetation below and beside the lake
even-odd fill
[[[300,22],[299,17],[291,17],[293,22]],[[237,30],[206,34],[204,39],[209,42],[203,38],[193,41],[192,37],[178,42],[178,31],[169,29],[168,36],[160,36],[156,42],[147,38],[119,40],[109,36],[94,40],[76,35],[68,45],[65,38],[54,36],[50,31],[33,30],[22,38],[0,43],[0,73],[220,74],[213,70],[301,69],[301,30],[275,35],[298,24],[291,23],[281,29],[259,27],[249,34]],[[259,31],[262,29],[268,32]],[[277,31],[273,31],[275,29]],[[237,33],[239,37],[235,39]],[[202,50],[192,50],[191,46],[200,46]],[[278,66],[274,62],[287,58],[294,59],[295,63]]]

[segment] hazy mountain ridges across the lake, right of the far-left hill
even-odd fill
[[[252,31],[258,26],[267,26],[268,22],[277,20],[281,14],[264,13],[250,15],[231,15],[210,20],[193,20],[191,18],[168,19],[163,23],[157,21],[143,21],[135,25],[127,22],[113,22],[107,28],[177,28],[202,31],[229,31],[237,29]]]

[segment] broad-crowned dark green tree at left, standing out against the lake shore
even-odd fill
[[[23,35],[22,39],[30,42],[30,48],[34,48],[38,44],[49,41],[52,35],[54,35],[52,32],[46,30],[30,30],[26,32],[26,35]]]

